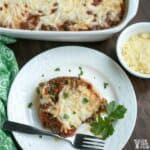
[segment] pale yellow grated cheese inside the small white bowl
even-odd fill
[[[143,74],[150,74],[150,33],[131,36],[122,47],[127,65]]]

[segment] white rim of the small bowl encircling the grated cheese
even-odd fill
[[[139,23],[135,23],[135,24],[132,24],[131,26],[127,27],[119,36],[118,40],[117,40],[117,57],[120,61],[120,63],[122,64],[122,66],[129,72],[131,73],[132,75],[136,76],[136,77],[139,77],[139,78],[145,78],[145,79],[150,79],[150,74],[143,74],[143,73],[140,73],[140,72],[137,72],[137,71],[134,71],[133,69],[131,69],[127,63],[125,62],[121,52],[121,44],[120,44],[120,40],[124,38],[124,36],[126,35],[126,33],[129,31],[129,30],[132,30],[132,29],[142,29],[144,26],[147,26],[149,27],[149,32],[150,32],[150,23],[149,22],[139,22]],[[144,28],[143,28],[144,29]],[[137,32],[138,33],[138,32]]]

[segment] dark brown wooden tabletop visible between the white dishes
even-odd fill
[[[139,21],[150,21],[150,0],[141,0],[137,16],[132,20],[132,23]],[[112,38],[95,43],[68,43],[68,42],[46,42],[33,40],[18,40],[11,48],[14,50],[19,66],[22,67],[28,60],[40,52],[64,45],[80,45],[102,51],[106,55],[112,57],[118,62],[115,49],[116,40],[119,34]],[[128,73],[127,73],[128,74]],[[134,139],[147,139],[150,144],[150,79],[143,80],[136,78],[130,74],[138,102],[138,116],[134,132],[125,146],[125,150],[134,150]],[[118,137],[121,138],[121,137]]]

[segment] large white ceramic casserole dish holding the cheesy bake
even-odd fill
[[[110,29],[96,31],[31,31],[20,29],[8,29],[0,27],[0,34],[16,38],[48,40],[48,41],[70,41],[70,42],[93,42],[102,41],[111,37],[114,33],[121,31],[136,15],[139,0],[127,0],[126,14],[123,21]]]

